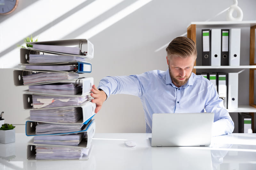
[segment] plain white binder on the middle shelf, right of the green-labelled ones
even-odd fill
[[[228,109],[238,108],[238,73],[228,73]]]

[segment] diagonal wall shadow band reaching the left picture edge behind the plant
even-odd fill
[[[60,16],[59,18],[56,18],[55,20],[53,20],[52,22],[50,22],[47,25],[43,26],[42,28],[38,29],[37,31],[27,35],[26,37],[30,37],[30,35],[39,35],[40,33],[44,32],[45,30],[51,28],[53,25],[58,24],[59,22],[61,22],[65,18],[68,18],[70,15],[76,13],[77,11],[79,11],[79,10],[83,9],[84,7],[86,7],[87,5],[91,4],[93,1],[95,1],[95,0],[87,0],[87,1],[77,5],[75,8],[73,8],[70,11],[66,12],[65,14]],[[0,53],[0,56],[3,56],[5,54],[9,53],[10,51],[12,51],[13,49],[15,49],[17,47],[17,44],[23,44],[23,43],[24,43],[24,39],[13,43],[9,48],[7,48],[4,51],[2,51]]]

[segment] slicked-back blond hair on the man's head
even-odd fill
[[[187,37],[177,37],[170,42],[166,48],[168,59],[171,55],[186,58],[194,55],[196,58],[196,44],[193,40]]]

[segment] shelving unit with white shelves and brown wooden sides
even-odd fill
[[[191,22],[187,27],[188,38],[196,42],[196,29],[197,28],[244,28],[250,27],[250,65],[240,66],[195,66],[193,72],[196,73],[196,69],[249,69],[249,105],[238,105],[238,109],[228,109],[228,112],[247,112],[252,116],[254,120],[254,113],[256,112],[256,105],[254,104],[254,70],[256,70],[255,63],[255,29],[256,21],[208,21],[208,22]],[[252,121],[252,128],[254,127]],[[255,129],[253,129],[255,132]]]

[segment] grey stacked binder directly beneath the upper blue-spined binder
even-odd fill
[[[49,83],[58,83],[63,81],[72,81],[79,78],[78,73],[74,72],[56,72],[56,71],[38,71],[38,70],[13,70],[14,85],[43,85]]]

